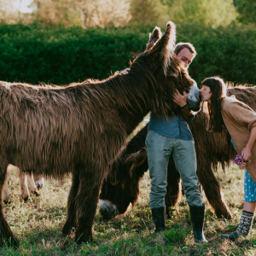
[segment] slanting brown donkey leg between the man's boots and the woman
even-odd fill
[[[227,207],[224,196],[221,191],[221,187],[218,183],[217,178],[212,172],[210,165],[204,166],[202,171],[201,166],[198,165],[197,176],[202,188],[207,196],[207,201],[210,204],[213,212],[215,212],[218,218],[232,218],[229,207]]]

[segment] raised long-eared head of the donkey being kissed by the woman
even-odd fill
[[[136,65],[143,61],[153,74],[154,83],[158,86],[151,88],[154,93],[152,93],[149,108],[160,116],[166,116],[177,108],[177,105],[172,101],[175,90],[180,93],[186,91],[189,94],[194,84],[183,64],[173,56],[175,42],[176,28],[171,21],[167,23],[166,32],[163,35],[160,32],[160,28],[155,27],[149,36],[146,50],[133,62],[133,65]],[[191,94],[193,96],[188,97],[189,108],[199,111],[201,97],[198,88],[195,87],[190,92]]]

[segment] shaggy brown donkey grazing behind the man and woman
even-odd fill
[[[228,95],[236,96],[238,100],[256,110],[256,87],[230,87]],[[224,169],[224,166],[229,166],[230,160],[235,158],[236,152],[230,143],[230,137],[225,131],[219,134],[208,132],[204,113],[198,113],[195,119],[189,122],[189,127],[195,139],[197,175],[209,205],[218,218],[232,218],[224,202],[218,180],[212,172],[217,170],[218,163],[221,163]],[[108,178],[102,184],[100,211],[104,218],[122,214],[130,203],[134,205],[137,202],[139,181],[148,170],[147,152],[144,148],[147,130],[148,125],[131,139],[113,163]],[[166,209],[176,206],[180,197],[180,177],[172,158],[168,165],[167,179]],[[168,217],[169,214],[167,210]]]

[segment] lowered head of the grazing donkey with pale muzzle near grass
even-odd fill
[[[121,157],[112,166],[107,180],[102,184],[100,212],[105,219],[123,214],[135,205],[139,195],[139,182],[148,170],[146,148]]]

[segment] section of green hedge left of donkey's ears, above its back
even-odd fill
[[[146,34],[79,27],[0,26],[0,79],[32,84],[69,84],[104,79],[128,67]]]

